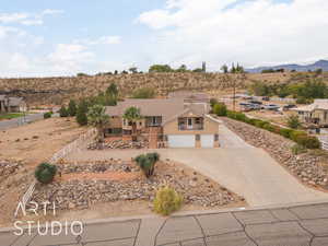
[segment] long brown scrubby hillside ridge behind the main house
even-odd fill
[[[280,83],[304,80],[306,73],[248,73],[244,75],[222,73],[143,73],[99,77],[0,79],[0,94],[24,96],[30,105],[66,103],[70,98],[95,95],[110,82],[117,83],[121,96],[138,87],[154,87],[159,95],[175,90],[203,91],[212,94],[231,91],[234,81],[237,89],[246,89],[253,81]],[[325,80],[328,81],[328,74]]]

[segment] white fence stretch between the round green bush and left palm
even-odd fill
[[[55,153],[52,157],[49,160],[49,163],[56,164],[59,160],[66,157],[68,154],[79,151],[83,148],[86,148],[90,143],[93,142],[94,137],[96,136],[97,131],[96,129],[91,129],[84,134],[80,136],[79,139],[71,142],[70,144],[62,148],[60,151]]]

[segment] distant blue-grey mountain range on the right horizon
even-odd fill
[[[328,60],[318,60],[314,63],[311,65],[295,65],[295,63],[290,63],[290,65],[278,65],[278,66],[272,66],[272,67],[258,67],[258,68],[250,68],[246,69],[247,72],[250,73],[260,73],[262,70],[268,70],[268,69],[284,69],[284,70],[295,70],[300,72],[304,71],[315,71],[317,69],[323,69],[324,71],[328,71]]]

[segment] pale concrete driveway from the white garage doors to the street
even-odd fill
[[[285,204],[328,199],[328,194],[305,187],[267,152],[243,141],[225,126],[220,127],[220,149],[162,149],[162,159],[184,163],[246,198],[250,206]],[[145,152],[86,151],[71,160],[130,160]]]

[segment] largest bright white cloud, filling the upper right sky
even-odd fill
[[[154,62],[245,66],[328,58],[327,0],[167,0],[137,22],[153,30]],[[156,51],[155,51],[156,50]]]

